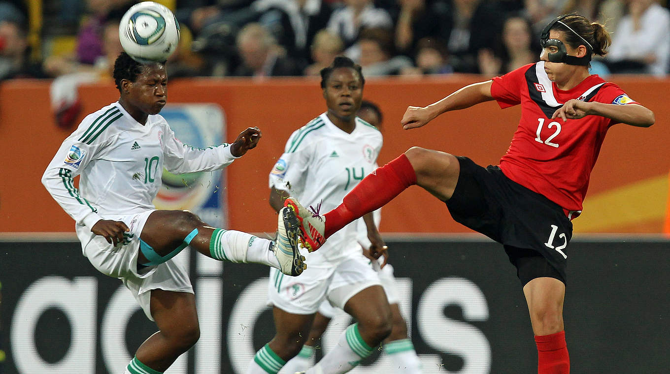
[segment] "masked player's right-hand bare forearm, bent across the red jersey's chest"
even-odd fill
[[[638,127],[649,127],[656,120],[654,112],[640,104],[604,104],[575,99],[568,100],[561,108],[558,108],[551,119],[561,118],[565,122],[569,119],[578,119],[590,115],[603,116],[611,118],[615,122]]]

